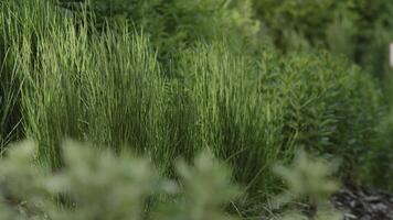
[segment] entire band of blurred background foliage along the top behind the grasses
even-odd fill
[[[68,9],[83,2],[60,0]],[[393,37],[393,3],[385,0],[91,0],[88,6],[99,14],[97,23],[128,19],[144,29],[164,58],[201,38],[224,36],[249,51],[261,45],[286,53],[326,48],[380,78],[391,72],[386,45]]]

